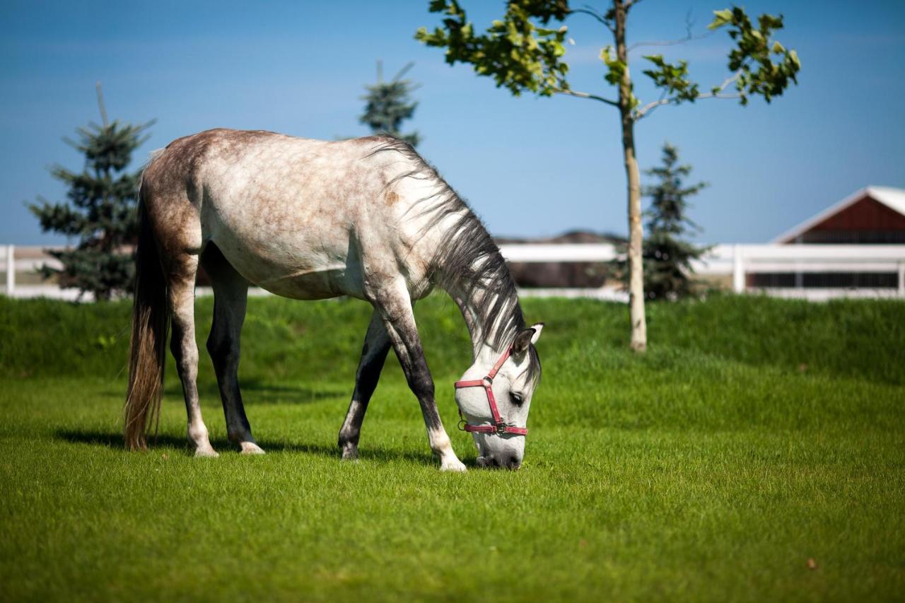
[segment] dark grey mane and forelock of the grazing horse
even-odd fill
[[[455,215],[448,235],[442,237],[443,242],[433,253],[430,263],[432,279],[447,291],[455,287],[465,292],[472,300],[476,298],[474,293],[483,289],[478,304],[480,318],[475,325],[479,331],[477,335],[483,338],[492,333],[489,343],[495,349],[510,345],[519,331],[525,328],[525,317],[509,267],[481,218],[408,142],[386,135],[380,137],[380,143],[368,157],[387,151],[396,152],[408,159],[412,166],[394,177],[387,187],[407,177],[428,180],[438,187],[436,193],[415,204],[420,215],[430,216],[424,226],[425,232],[438,227],[444,218]],[[539,378],[540,359],[534,346],[529,346],[529,356],[529,379]]]

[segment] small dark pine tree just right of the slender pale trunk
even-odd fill
[[[700,226],[688,218],[688,197],[707,187],[704,182],[684,186],[691,166],[679,165],[679,149],[669,143],[662,148],[662,165],[645,170],[657,183],[643,187],[643,196],[652,199],[644,213],[647,237],[643,244],[644,292],[649,299],[676,299],[691,295],[691,261],[707,253],[684,240],[700,233]]]

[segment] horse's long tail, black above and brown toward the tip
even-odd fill
[[[129,390],[126,394],[126,447],[145,450],[148,420],[155,422],[163,397],[164,362],[167,354],[167,282],[164,278],[157,241],[148,221],[143,201],[144,187],[138,190],[138,249],[135,259],[135,296],[132,302],[132,338],[129,357]]]

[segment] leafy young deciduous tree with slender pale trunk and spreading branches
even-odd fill
[[[734,42],[729,52],[729,77],[702,91],[699,84],[691,81],[687,62],[670,63],[660,54],[650,54],[643,57],[648,62],[648,69],[643,74],[660,89],[661,97],[643,104],[633,93],[629,72],[631,49],[626,43],[628,14],[639,2],[641,0],[606,0],[605,9],[598,11],[586,5],[571,8],[568,0],[509,0],[502,18],[481,34],[476,33],[458,0],[431,0],[430,11],[446,15],[443,25],[433,32],[422,27],[415,38],[428,46],[445,48],[446,62],[470,63],[479,75],[492,77],[498,87],[506,88],[515,96],[522,92],[540,96],[565,94],[618,110],[628,182],[631,346],[643,351],[647,346],[647,327],[644,320],[641,177],[634,150],[634,124],[661,105],[707,98],[738,99],[744,105],[754,95],[769,102],[774,96],[781,95],[791,82],[796,82],[800,63],[795,51],[786,50],[772,40],[773,33],[783,27],[781,15],[761,14],[754,24],[744,9],[733,6],[715,11],[710,24],[710,29],[726,28]],[[567,27],[546,25],[552,20],[562,22],[573,14],[595,19],[613,35],[614,44],[601,51],[600,59],[605,67],[605,81],[616,88],[615,99],[576,91],[568,84],[569,66],[563,59]],[[538,26],[535,21],[544,26]],[[687,40],[691,40],[691,35],[675,43]],[[641,44],[633,47],[637,45]]]

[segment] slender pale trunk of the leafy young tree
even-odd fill
[[[628,181],[628,267],[629,267],[629,318],[632,321],[634,351],[647,349],[647,321],[644,318],[644,273],[642,263],[643,228],[641,225],[641,176],[638,158],[634,155],[634,119],[632,76],[628,71],[628,51],[625,48],[625,15],[628,7],[624,0],[614,0],[616,57],[625,66],[619,81],[619,115],[622,121],[623,158],[625,177]]]

